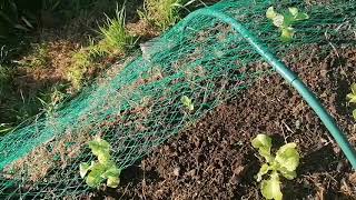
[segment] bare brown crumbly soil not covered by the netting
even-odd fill
[[[356,81],[356,49],[312,47],[289,54],[286,62],[320,97],[355,144],[356,126],[346,94]],[[356,173],[343,152],[313,110],[277,74],[261,77],[126,169],[120,189],[92,198],[263,199],[254,179],[260,161],[250,146],[258,133],[270,134],[274,147],[298,144],[301,163],[295,180],[283,180],[285,199],[356,199]]]

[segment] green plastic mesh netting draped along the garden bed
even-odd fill
[[[294,26],[291,42],[265,16],[297,7],[310,19]],[[309,44],[355,46],[356,2],[325,0],[228,0],[210,9],[243,22],[283,57]],[[271,72],[256,50],[229,24],[200,16],[181,20],[142,46],[144,57],[109,69],[55,113],[0,138],[0,199],[77,199],[95,191],[79,176],[79,163],[95,159],[87,142],[101,136],[125,169],[209,110]],[[260,64],[259,64],[260,66]],[[188,111],[180,98],[192,99]]]

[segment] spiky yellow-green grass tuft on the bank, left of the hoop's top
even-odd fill
[[[135,40],[125,28],[125,7],[121,10],[116,10],[116,18],[110,19],[108,16],[105,27],[100,27],[102,41],[99,43],[102,51],[123,51],[128,47],[132,47]]]

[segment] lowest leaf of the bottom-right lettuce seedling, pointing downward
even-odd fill
[[[283,193],[278,173],[271,173],[270,179],[264,180],[260,191],[266,199],[281,200]]]

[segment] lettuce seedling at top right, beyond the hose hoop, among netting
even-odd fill
[[[269,7],[266,17],[273,20],[273,23],[279,28],[281,31],[280,40],[284,42],[289,42],[293,39],[295,34],[293,24],[297,21],[309,19],[307,13],[299,12],[297,8],[288,8],[288,12],[279,14],[275,11],[274,7]]]

